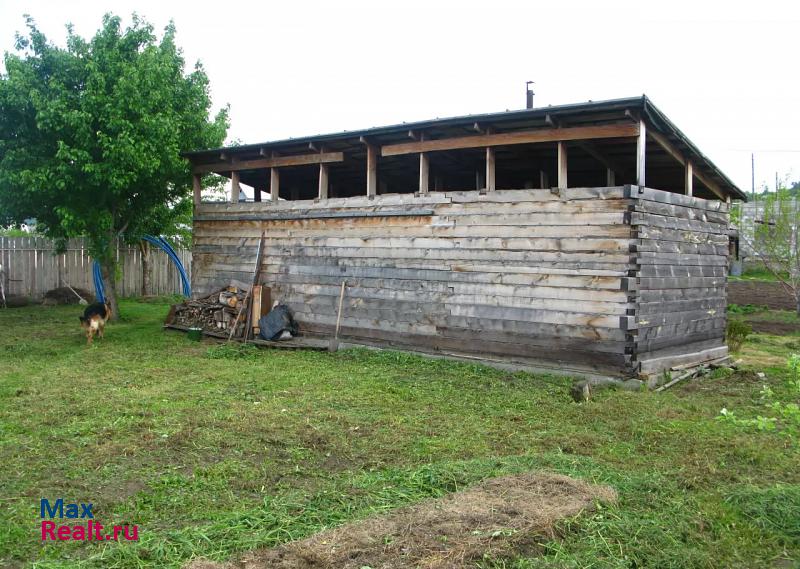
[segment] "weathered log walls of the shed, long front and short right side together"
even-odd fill
[[[248,282],[264,231],[262,281],[307,334],[332,333],[346,280],[353,342],[652,373],[724,346],[726,224],[635,186],[200,204],[192,288]]]

